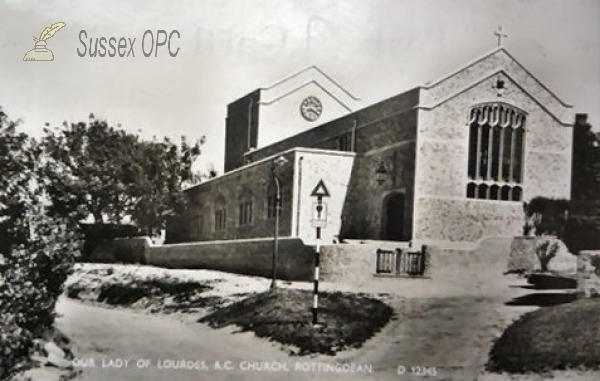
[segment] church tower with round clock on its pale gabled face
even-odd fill
[[[248,163],[246,153],[357,109],[352,95],[317,66],[259,88],[227,106],[225,172]]]

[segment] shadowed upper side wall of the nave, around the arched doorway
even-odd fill
[[[338,138],[355,136],[356,158],[344,201],[340,237],[385,239],[385,207],[405,197],[403,239],[412,236],[415,142],[420,89],[416,88],[248,155],[259,160],[293,147],[339,149]],[[354,129],[354,127],[356,127]],[[388,176],[377,183],[384,163]],[[326,179],[324,179],[326,180]],[[365,197],[368,195],[368,197]],[[400,211],[399,211],[400,213]]]

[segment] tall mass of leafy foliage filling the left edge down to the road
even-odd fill
[[[0,379],[52,329],[78,255],[77,226],[49,214],[41,149],[0,108]]]

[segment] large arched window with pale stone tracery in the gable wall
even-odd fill
[[[469,114],[467,197],[521,201],[525,113],[505,103],[475,106]]]

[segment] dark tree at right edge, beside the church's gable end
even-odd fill
[[[600,140],[587,122],[587,114],[577,114],[573,126],[572,199],[600,199]]]

